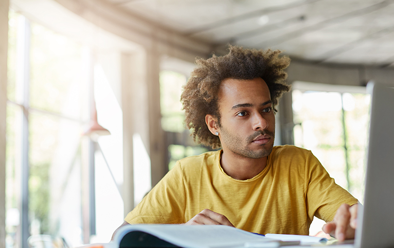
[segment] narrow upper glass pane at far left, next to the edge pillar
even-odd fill
[[[20,15],[12,9],[8,12],[7,98],[14,102],[16,101],[18,16]]]

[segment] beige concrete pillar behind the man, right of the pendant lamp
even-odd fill
[[[134,208],[133,135],[143,141],[151,166],[152,187],[165,175],[164,132],[160,112],[160,55],[139,50],[121,56],[122,110],[124,132],[124,185],[122,197],[125,214]],[[137,185],[138,187],[138,185]]]

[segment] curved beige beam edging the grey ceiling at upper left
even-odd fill
[[[148,50],[174,50],[205,57],[212,44],[192,39],[161,25],[148,22],[104,0],[55,0],[95,25],[142,45]],[[158,47],[159,46],[159,47]]]

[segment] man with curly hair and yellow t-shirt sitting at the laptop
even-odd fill
[[[198,59],[181,96],[194,140],[222,149],[179,160],[123,225],[228,225],[308,235],[317,216],[327,222],[325,232],[340,241],[353,238],[357,199],[310,151],[273,147],[275,106],[289,90],[289,58],[280,51],[229,50]]]

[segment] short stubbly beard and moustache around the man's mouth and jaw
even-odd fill
[[[240,137],[234,135],[229,130],[220,127],[220,142],[224,143],[230,151],[238,156],[250,158],[250,159],[261,159],[267,157],[272,152],[273,141],[275,139],[275,129],[273,132],[269,130],[261,130],[255,131],[251,136],[249,136],[246,141],[243,141]],[[272,142],[269,142],[264,145],[260,145],[260,148],[257,150],[251,150],[248,145],[259,135],[268,134],[272,139]],[[245,145],[243,145],[246,142]]]

